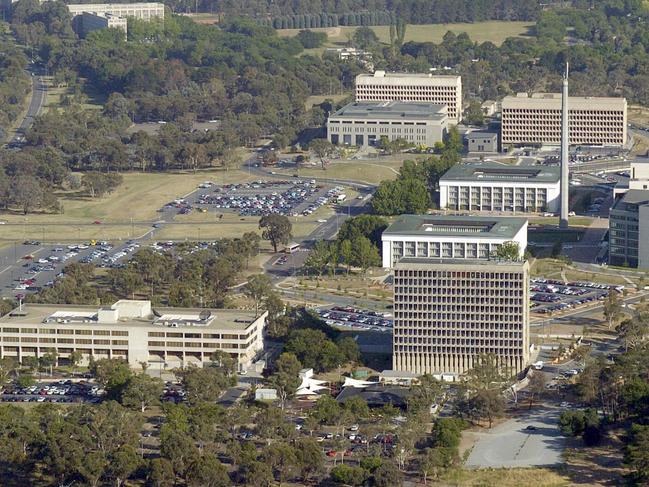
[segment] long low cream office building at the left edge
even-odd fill
[[[27,304],[0,318],[0,356],[22,361],[56,350],[65,362],[73,351],[121,358],[139,368],[202,366],[217,350],[250,365],[263,349],[266,316],[235,310],[151,307],[120,300],[109,307]]]

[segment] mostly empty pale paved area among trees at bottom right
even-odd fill
[[[478,441],[466,462],[468,467],[531,467],[563,463],[564,438],[557,426],[561,410],[542,408],[525,412],[491,431],[476,433]],[[536,426],[529,431],[528,425]]]

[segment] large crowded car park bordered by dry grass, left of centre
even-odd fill
[[[224,186],[205,181],[197,192],[170,201],[160,211],[182,215],[213,210],[238,212],[240,216],[307,216],[328,203],[341,202],[345,198],[342,187],[319,185],[315,180],[260,180]]]

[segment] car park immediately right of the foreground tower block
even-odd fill
[[[530,301],[533,313],[547,314],[601,301],[610,290],[622,292],[624,286],[595,282],[568,282],[556,279],[530,279]]]

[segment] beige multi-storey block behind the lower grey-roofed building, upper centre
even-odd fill
[[[385,71],[356,76],[356,101],[389,100],[446,105],[449,122],[455,125],[462,118],[462,78]]]

